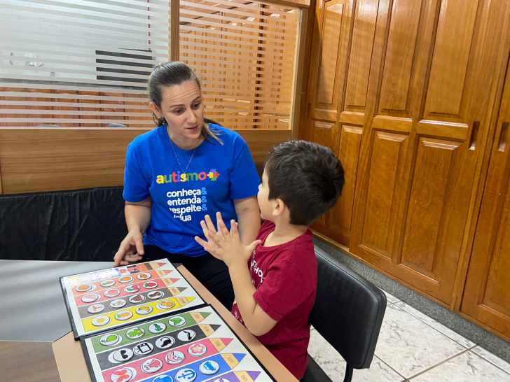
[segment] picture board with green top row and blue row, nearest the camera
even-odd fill
[[[96,382],[274,381],[212,306],[81,342]]]

